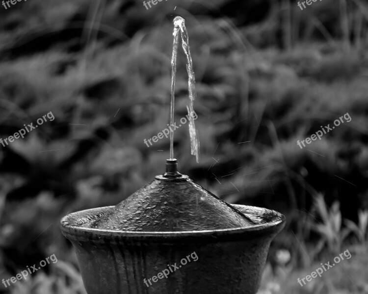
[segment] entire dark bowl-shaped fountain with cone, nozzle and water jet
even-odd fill
[[[184,19],[176,17],[172,124],[179,34],[187,57],[188,112],[195,99]],[[193,120],[189,132],[198,161]],[[255,294],[269,245],[285,217],[265,208],[228,204],[195,184],[178,171],[173,132],[170,139],[164,174],[116,206],[78,211],[61,220],[62,233],[77,252],[87,293]]]

